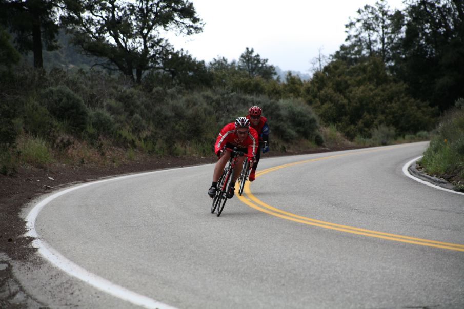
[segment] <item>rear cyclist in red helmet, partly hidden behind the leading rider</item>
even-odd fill
[[[259,136],[259,143],[258,143],[258,150],[256,151],[256,160],[251,168],[250,175],[248,176],[248,180],[253,181],[255,178],[256,168],[258,167],[259,158],[261,157],[261,150],[263,153],[267,153],[269,151],[269,126],[267,123],[266,117],[261,115],[263,110],[261,110],[258,106],[252,106],[248,110],[247,119],[251,122],[251,128],[255,129],[258,132]],[[266,142],[266,146],[265,146]]]

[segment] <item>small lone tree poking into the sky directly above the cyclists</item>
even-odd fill
[[[262,59],[259,54],[254,54],[254,49],[246,48],[240,55],[238,68],[245,70],[250,77],[261,76],[266,80],[271,79],[277,73],[272,65],[268,65],[268,59]]]

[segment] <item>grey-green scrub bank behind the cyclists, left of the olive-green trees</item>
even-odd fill
[[[208,156],[220,128],[252,105],[272,119],[275,150],[322,140],[314,113],[298,99],[271,100],[220,88],[146,89],[148,85],[135,86],[103,72],[19,72],[2,84],[9,91],[1,108],[4,173],[22,163],[113,164],[137,155]]]

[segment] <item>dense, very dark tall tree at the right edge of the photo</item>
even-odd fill
[[[464,97],[464,3],[409,1],[396,74],[414,97],[441,111]]]

